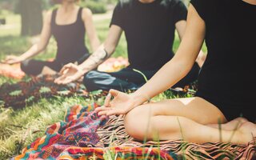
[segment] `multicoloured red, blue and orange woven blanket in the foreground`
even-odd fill
[[[14,159],[174,159],[174,154],[157,147],[103,147],[96,130],[109,118],[98,117],[93,111],[97,106],[71,107],[64,122],[50,126],[45,136],[35,140]]]

